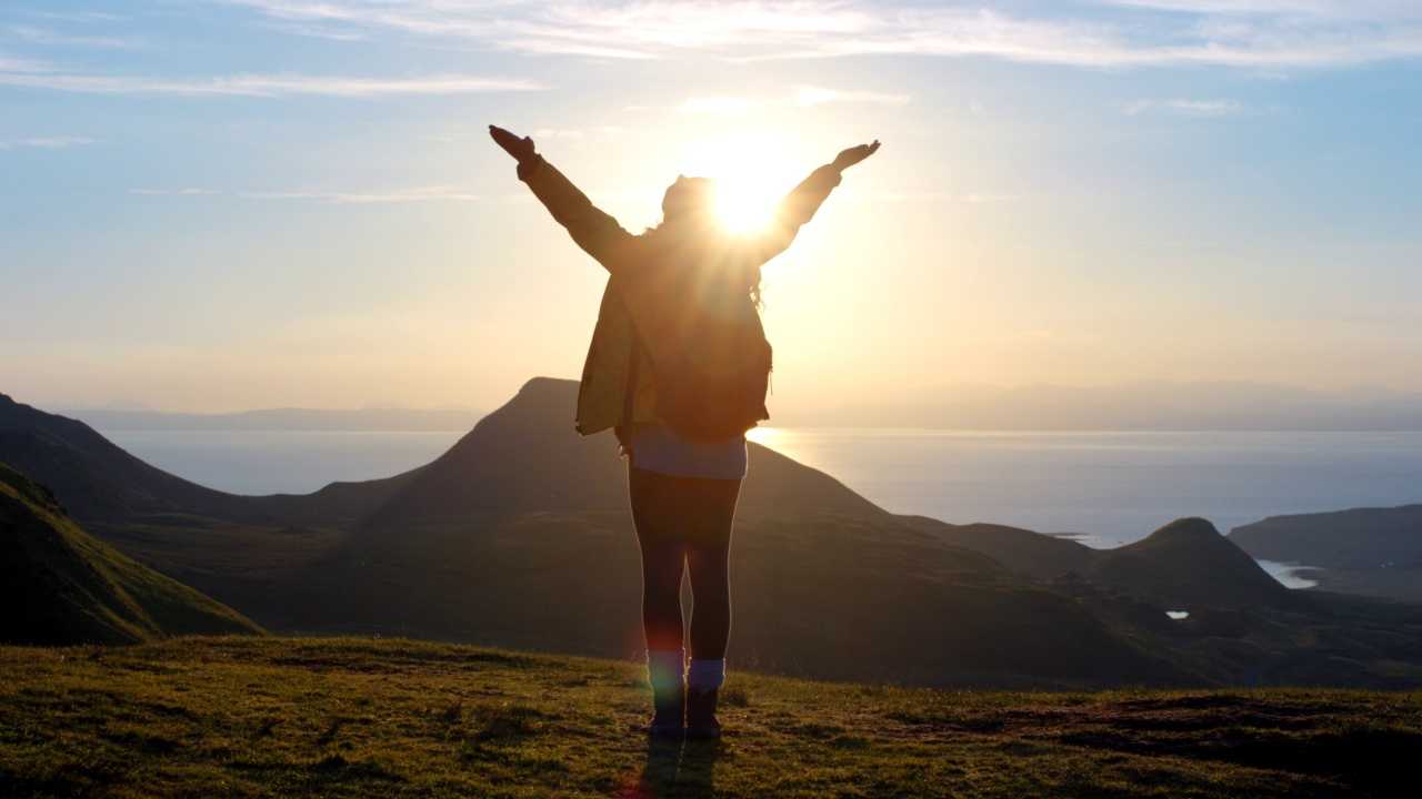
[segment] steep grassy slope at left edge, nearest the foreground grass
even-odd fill
[[[0,641],[135,643],[262,633],[74,525],[54,495],[0,463]]]

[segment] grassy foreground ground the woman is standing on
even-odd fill
[[[648,746],[643,668],[402,640],[0,647],[4,796],[1357,798],[1422,695],[936,692],[732,674]]]

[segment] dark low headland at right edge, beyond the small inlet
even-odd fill
[[[1422,505],[1270,516],[1230,530],[1264,560],[1318,567],[1318,589],[1422,600]]]

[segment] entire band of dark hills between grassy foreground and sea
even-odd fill
[[[573,432],[576,392],[532,380],[437,461],[301,496],[198,486],[3,395],[0,462],[97,537],[277,633],[631,655],[626,466],[610,435]],[[1287,591],[1209,522],[1099,552],[893,516],[749,455],[737,668],[941,687],[1422,685],[1422,604]]]

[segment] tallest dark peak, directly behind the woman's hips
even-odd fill
[[[573,431],[577,382],[539,377],[479,421],[377,512],[383,522],[469,512],[624,510],[626,463],[611,434]],[[889,513],[829,475],[751,445],[742,508]]]

